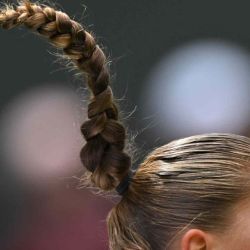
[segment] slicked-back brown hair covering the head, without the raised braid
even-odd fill
[[[120,249],[172,249],[190,229],[221,234],[235,206],[248,198],[249,138],[205,134],[173,141],[146,158],[111,211],[114,249],[117,241],[135,240],[134,232],[148,246]]]

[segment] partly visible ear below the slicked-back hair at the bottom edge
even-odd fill
[[[199,229],[188,230],[181,239],[181,250],[209,250],[210,236]]]

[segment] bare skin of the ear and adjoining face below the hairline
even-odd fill
[[[220,234],[189,229],[173,250],[249,250],[250,198],[239,202],[231,214],[231,226]]]

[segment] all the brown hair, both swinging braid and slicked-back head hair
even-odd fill
[[[0,25],[24,24],[63,50],[86,74],[91,100],[81,131],[84,166],[96,187],[113,190],[130,171],[126,134],[110,88],[107,59],[93,34],[65,13],[21,2],[2,9]],[[107,223],[113,250],[164,250],[188,228],[220,232],[233,205],[249,196],[250,139],[204,134],[154,150],[139,166]]]

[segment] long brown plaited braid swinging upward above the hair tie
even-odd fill
[[[79,23],[51,7],[24,1],[1,10],[2,28],[12,29],[22,24],[62,49],[86,74],[92,96],[88,105],[89,119],[81,126],[87,143],[80,156],[97,187],[114,189],[128,174],[131,160],[124,152],[126,133],[118,121],[106,56],[94,37]]]

